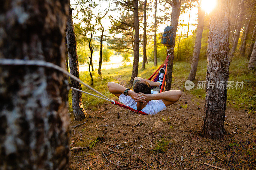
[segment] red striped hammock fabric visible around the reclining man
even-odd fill
[[[164,90],[165,90],[165,85],[166,85],[166,84],[165,84],[165,83],[166,83],[166,77],[165,77],[165,76],[166,76],[166,71],[167,71],[168,57],[169,57],[169,55],[166,57],[164,63],[154,72],[154,74],[153,74],[150,78],[148,78],[148,80],[150,80],[150,81],[157,82],[158,76],[159,76],[159,70],[160,70],[161,68],[164,68],[164,69],[165,69],[164,79],[163,79],[163,83],[162,83],[160,92],[164,92]],[[111,103],[114,104],[114,105],[120,106],[120,107],[127,108],[127,109],[131,110],[131,111],[134,112],[134,113],[138,113],[138,114],[141,114],[141,115],[148,115],[148,114],[146,114],[145,112],[135,110],[135,109],[133,109],[132,107],[125,106],[124,104],[119,103],[119,102],[117,102],[117,101],[115,101],[115,103],[114,103],[114,102],[111,102]]]

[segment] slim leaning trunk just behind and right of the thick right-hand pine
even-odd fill
[[[232,61],[232,58],[234,57],[234,53],[236,51],[236,47],[237,47],[237,43],[238,43],[238,39],[240,37],[240,31],[241,31],[241,27],[242,27],[242,21],[243,21],[243,12],[244,12],[244,0],[242,0],[241,2],[241,10],[240,10],[240,15],[237,21],[237,27],[236,27],[236,33],[234,35],[234,41],[232,44],[232,48],[229,52],[229,60],[230,62]]]

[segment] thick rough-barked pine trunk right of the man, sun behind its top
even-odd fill
[[[204,107],[203,135],[218,139],[225,134],[224,120],[227,102],[229,73],[229,0],[217,0],[209,24],[206,97]],[[220,88],[223,83],[223,88]]]

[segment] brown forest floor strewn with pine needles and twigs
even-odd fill
[[[176,71],[178,67],[180,66],[177,66]],[[152,67],[152,70],[154,69]],[[121,68],[121,70],[124,71],[125,68]],[[152,70],[148,70],[148,72],[152,74]],[[198,77],[203,75],[205,77],[205,69],[200,70],[202,73],[199,72]],[[115,75],[109,70],[108,72],[106,74],[110,74],[110,77],[103,76],[94,80],[94,88],[104,88],[97,82],[105,85],[110,80],[115,80],[128,87],[126,82],[128,82],[129,76],[125,77],[125,75],[129,75],[129,69],[126,69],[125,73],[115,69],[115,73],[117,72],[123,77]],[[145,74],[141,72],[139,76],[143,77]],[[233,74],[237,74],[237,72],[231,69],[230,77],[234,77]],[[244,76],[248,78],[248,75]],[[249,75],[248,78],[252,82],[250,86],[255,85],[253,76],[255,79],[255,73]],[[224,138],[212,140],[201,135],[205,91],[185,90],[183,87],[186,78],[183,77],[175,76],[174,72],[172,89],[182,90],[180,100],[167,107],[167,110],[152,116],[134,114],[122,107],[95,102],[98,100],[90,101],[87,98],[84,105],[88,116],[83,121],[75,121],[74,116],[71,115],[73,128],[70,148],[84,148],[71,151],[70,168],[215,169],[204,164],[208,163],[226,170],[256,169],[255,100],[251,101],[255,95],[255,87],[250,87],[252,91],[254,90],[253,93],[250,91],[244,94],[242,91],[238,96],[239,98],[243,94],[251,95],[252,97],[247,96],[250,100],[243,97],[242,101],[238,100],[237,103],[228,97],[225,116],[225,121],[228,123],[225,123],[226,135]],[[108,96],[118,100],[111,94]],[[70,112],[72,113],[72,109]],[[74,127],[80,123],[84,124]],[[124,142],[130,143],[120,144]],[[116,165],[109,163],[101,150],[107,159]],[[211,152],[216,156],[213,156]]]

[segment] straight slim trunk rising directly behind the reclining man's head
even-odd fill
[[[133,1],[134,9],[134,48],[133,48],[133,66],[132,66],[132,77],[130,85],[133,83],[133,79],[138,76],[139,67],[139,11],[138,11],[138,0]]]

